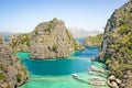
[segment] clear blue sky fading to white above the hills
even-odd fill
[[[57,18],[67,28],[101,31],[114,9],[128,0],[0,0],[0,32],[31,32]]]

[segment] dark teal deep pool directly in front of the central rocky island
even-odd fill
[[[33,75],[70,75],[73,73],[86,72],[90,63],[80,59],[56,59],[56,61],[31,61],[23,59]]]

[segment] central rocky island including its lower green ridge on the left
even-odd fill
[[[31,33],[13,35],[10,46],[14,52],[30,52],[31,58],[67,57],[72,51],[84,48],[57,19],[40,23]]]

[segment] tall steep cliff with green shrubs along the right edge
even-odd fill
[[[118,87],[132,87],[132,0],[108,20],[99,57],[108,65],[109,74],[122,80]]]

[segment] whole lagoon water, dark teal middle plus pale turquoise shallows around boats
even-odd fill
[[[90,57],[97,56],[97,47],[87,47],[68,58],[38,61],[30,59],[29,53],[16,53],[30,73],[29,80],[19,88],[109,88],[88,84],[92,77],[101,77],[103,81],[107,81],[103,75],[97,73],[91,75],[87,70],[91,65],[103,69],[103,64],[90,62]],[[82,80],[74,79],[72,77],[74,73]]]

